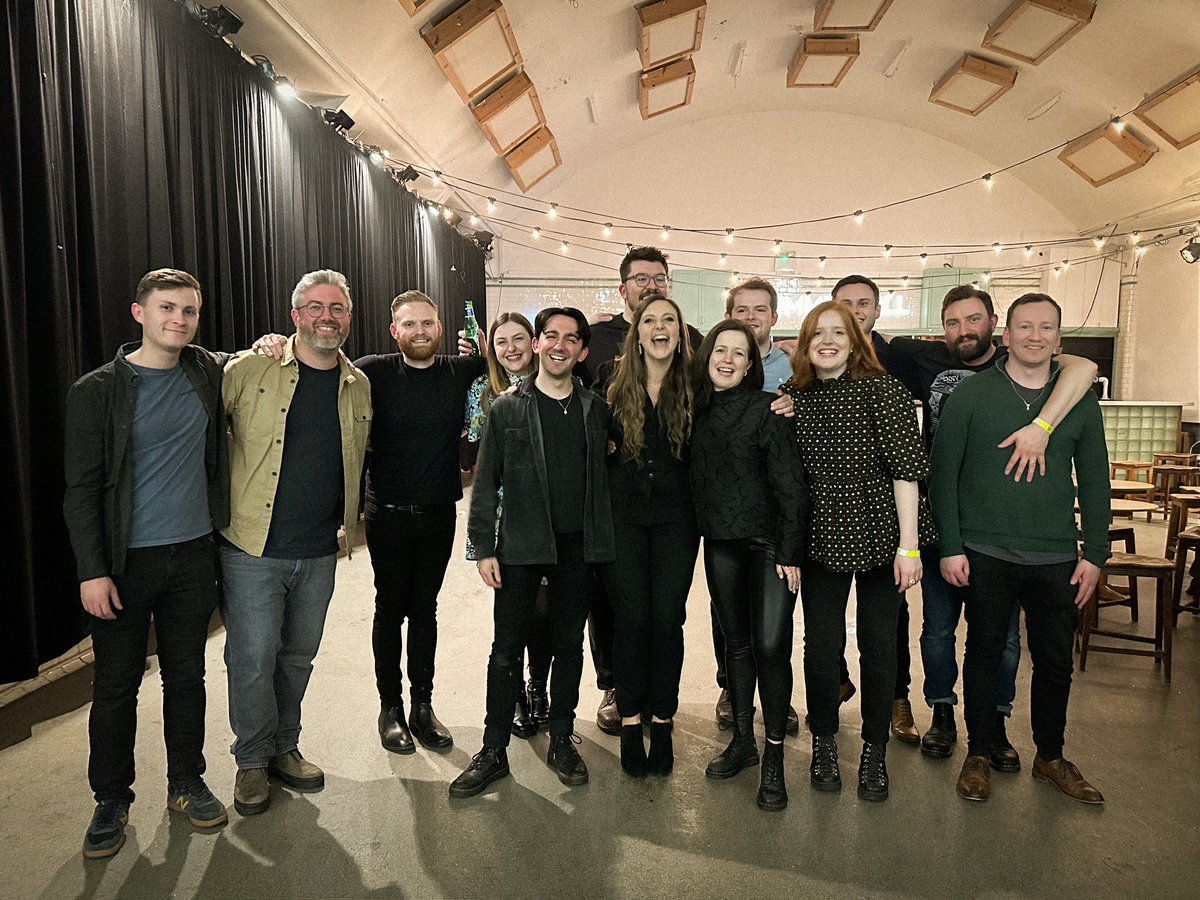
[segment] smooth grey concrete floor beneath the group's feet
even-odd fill
[[[460,508],[462,532],[466,508]],[[1138,524],[1144,552],[1164,527]],[[460,534],[458,546],[462,546]],[[842,708],[840,794],[808,786],[808,738],[787,742],[791,805],[754,803],[757,769],[726,781],[703,768],[726,743],[713,721],[712,649],[703,574],[689,600],[676,770],[634,781],[617,740],[595,726],[599,695],[584,672],[580,746],[592,773],[566,788],[545,766],[547,738],[514,739],[512,776],[450,803],[446,785],[480,745],[491,595],[456,556],[442,593],[436,708],[452,750],[395,756],[379,748],[371,667],[372,588],[366,551],[342,560],[325,641],[305,703],[305,754],[325,768],[322,793],[272,792],[271,809],[233,812],[226,751],[223,635],[209,642],[209,785],[230,823],[199,834],[164,809],[161,691],[151,660],[128,841],[108,862],[80,857],[91,814],[86,781],[86,679],[6,708],[0,731],[0,884],[13,898],[203,896],[1194,896],[1200,865],[1200,620],[1183,616],[1174,683],[1147,659],[1094,655],[1076,673],[1067,756],[1104,791],[1100,808],[1073,803],[1028,774],[1028,660],[1009,736],[1024,768],[992,775],[992,799],[954,793],[964,756],[930,761],[893,742],[892,798],[858,800],[858,698]],[[1105,611],[1106,623],[1127,612]],[[850,613],[851,622],[853,610]],[[913,596],[913,684],[919,696],[919,599]],[[1153,620],[1150,583],[1141,629]],[[794,664],[799,672],[800,628]],[[854,666],[854,659],[851,660]],[[856,677],[856,682],[857,682]],[[803,712],[799,674],[797,706]],[[24,701],[22,701],[24,703]],[[928,710],[917,710],[928,725]],[[10,745],[11,744],[11,745]],[[1192,888],[1188,888],[1192,884]]]

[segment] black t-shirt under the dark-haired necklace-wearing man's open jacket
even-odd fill
[[[534,388],[541,421],[542,452],[550,476],[550,522],[554,534],[583,530],[588,490],[588,437],[577,391],[568,400],[547,397]]]

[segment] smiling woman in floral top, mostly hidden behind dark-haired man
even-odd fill
[[[521,384],[533,371],[533,326],[518,312],[502,312],[488,330],[487,348],[487,373],[476,378],[467,391],[467,440],[470,443],[479,443],[482,437],[484,422],[494,400],[510,386]],[[475,559],[470,538],[467,539],[467,559]],[[533,737],[539,726],[550,721],[550,696],[546,692],[551,658],[547,604],[548,595],[542,584],[538,593],[536,613],[529,623],[529,685],[517,697],[512,714],[512,733],[518,738]]]

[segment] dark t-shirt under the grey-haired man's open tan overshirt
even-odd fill
[[[312,368],[296,360],[296,382],[283,432],[283,462],[264,557],[312,559],[337,552],[342,522],[340,366]]]

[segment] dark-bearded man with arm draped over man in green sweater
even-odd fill
[[[922,396],[928,409],[926,440],[931,445],[946,398],[967,378],[1003,361],[1008,350],[992,344],[996,312],[991,295],[970,284],[952,288],[942,300],[943,341],[911,337],[883,338],[889,349],[910,356],[920,373]],[[1001,448],[1013,448],[1004,474],[1032,481],[1045,475],[1045,448],[1052,431],[1074,406],[1091,390],[1096,364],[1078,356],[1060,356],[1060,376],[1039,416],[1013,432]],[[935,510],[935,516],[937,511]],[[936,545],[922,550],[920,658],[925,670],[925,702],[934,710],[932,722],[920,738],[920,751],[932,758],[948,757],[958,740],[954,707],[959,680],[955,631],[966,599],[964,588],[949,584],[941,575]],[[1021,656],[1020,610],[1014,608],[1008,641],[1001,658],[996,722],[989,762],[998,772],[1018,772],[1021,760],[1004,733],[1004,720],[1012,714],[1016,696],[1016,668]]]

